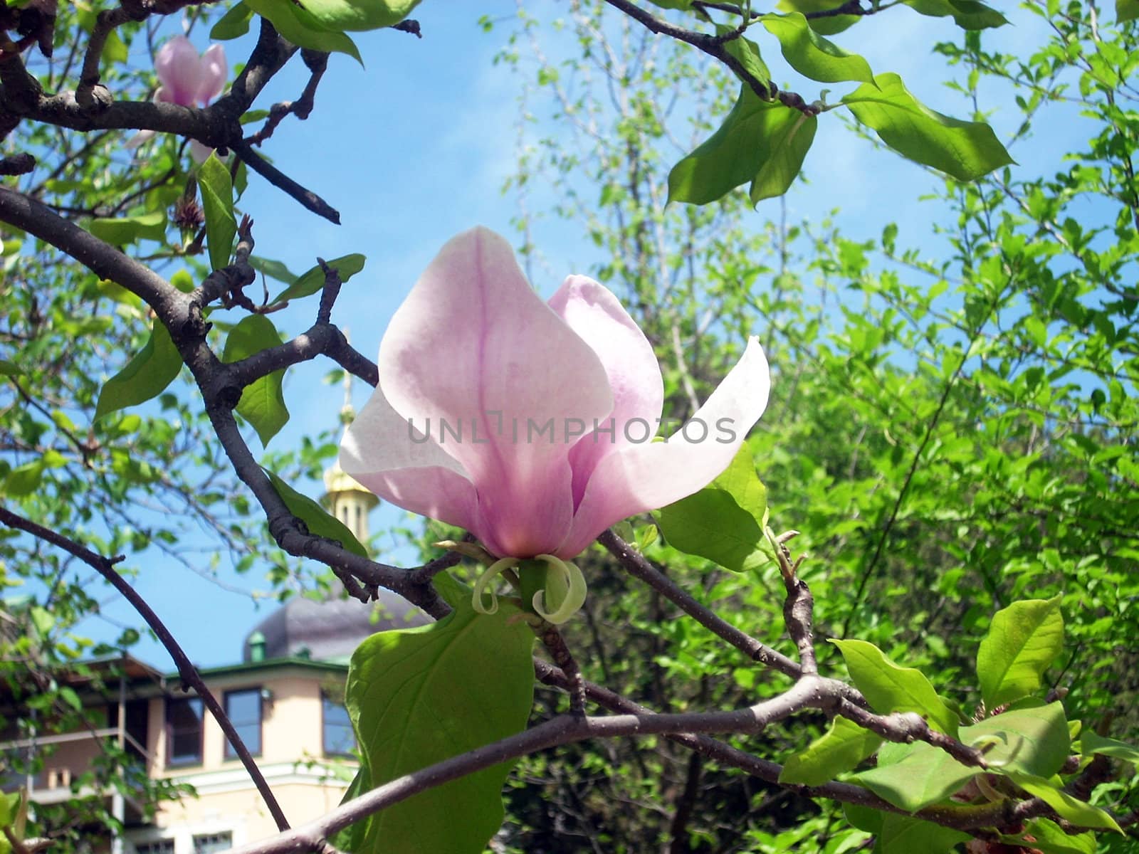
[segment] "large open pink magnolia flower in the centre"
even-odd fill
[[[484,228],[442,248],[392,318],[378,364],[341,466],[500,558],[573,558],[609,525],[707,485],[770,388],[752,338],[685,427],[652,441],[661,368],[617,298],[571,276],[542,302]]]

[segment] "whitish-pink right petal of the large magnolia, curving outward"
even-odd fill
[[[768,405],[771,375],[757,338],[703,407],[667,442],[629,445],[603,458],[570,536],[555,552],[572,558],[606,527],[703,488],[728,468]],[[706,430],[706,435],[705,435]]]

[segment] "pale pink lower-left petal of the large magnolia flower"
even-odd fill
[[[433,519],[478,527],[478,498],[462,468],[432,441],[416,442],[378,388],[349,425],[341,467],[380,498]]]

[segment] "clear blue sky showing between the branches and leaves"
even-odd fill
[[[552,1],[526,6],[539,17],[549,17],[551,11],[565,14],[567,8],[565,2]],[[448,238],[475,224],[517,238],[510,229],[516,203],[501,187],[514,170],[522,81],[507,65],[492,61],[513,30],[515,13],[514,0],[425,0],[415,13],[423,26],[421,40],[393,31],[360,35],[366,69],[351,58],[333,57],[311,118],[304,123],[286,120],[263,150],[279,169],[338,208],[342,225],[310,214],[251,175],[241,206],[256,223],[256,254],[284,261],[295,272],[311,266],[317,255],[328,258],[359,252],[368,256],[364,271],[342,291],[334,320],[350,328],[353,343],[369,356],[374,358],[392,312]],[[483,15],[498,22],[490,33],[478,25]],[[1009,15],[1015,26],[990,34],[986,43],[993,40],[1011,52],[1040,43],[1043,24],[1039,18]],[[854,42],[847,33],[845,43],[857,47],[875,72],[901,74],[928,106],[964,116],[968,106],[941,85],[947,72],[942,60],[928,52],[928,46],[947,38],[948,26],[910,9],[892,9],[853,31],[872,33],[872,39],[860,36]],[[546,35],[554,40],[550,46],[556,52],[558,36],[549,31]],[[199,49],[206,47],[205,32],[195,32],[192,38]],[[836,36],[836,41],[843,43],[844,39]],[[228,42],[230,63],[247,56],[251,46],[251,36]],[[768,52],[773,55],[765,54],[765,59],[776,79],[788,79],[775,49]],[[304,67],[293,63],[255,106],[295,98],[305,77]],[[812,99],[821,88],[812,85],[796,88]],[[845,91],[831,88],[837,90],[831,100]],[[984,95],[994,107],[1007,98],[1007,92],[1000,91]],[[875,237],[888,222],[898,222],[900,245],[936,253],[939,244],[929,228],[935,211],[918,200],[934,188],[935,180],[918,166],[874,150],[844,131],[838,121],[831,121],[836,118],[823,116],[820,122],[805,163],[810,181],[796,184],[787,198],[788,222],[803,217],[818,222],[839,208],[835,222],[850,238]],[[992,121],[1005,137],[1018,117],[998,110]],[[1018,145],[1013,155],[1026,172],[1047,174],[1062,167],[1059,156],[1067,146],[1087,136],[1079,121],[1059,122],[1038,129],[1036,137]],[[761,229],[778,215],[777,200],[762,203],[753,214],[754,225]],[[552,293],[566,273],[585,272],[600,261],[580,233],[556,221],[542,225],[538,239],[546,263],[535,268],[534,284],[543,294]],[[314,311],[314,303],[302,303],[273,319],[284,332],[296,334],[311,323]],[[330,367],[322,362],[290,371],[285,394],[292,420],[273,440],[273,447],[296,444],[301,436],[336,424],[341,388],[320,381]],[[362,384],[358,386],[358,408],[366,392]],[[256,450],[255,438],[251,444]],[[297,487],[313,496],[320,491],[317,484]],[[382,507],[372,515],[372,529],[403,518],[403,511]],[[380,540],[382,545],[385,542],[392,541]],[[405,556],[380,555],[380,559],[401,557]],[[222,570],[220,578],[247,591],[268,589],[257,570],[243,577]],[[202,665],[237,660],[245,634],[274,607],[272,602],[257,606],[248,593],[231,592],[173,564],[142,568],[137,586],[191,659]],[[116,622],[138,622],[130,608],[113,597],[106,600],[104,613]],[[208,614],[208,619],[203,619],[203,614]],[[117,629],[104,621],[91,621],[84,629],[101,640],[117,634]],[[144,640],[134,652],[158,666],[170,665],[153,641]]]

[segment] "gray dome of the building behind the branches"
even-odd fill
[[[251,660],[249,639],[259,632],[264,638],[265,660],[308,657],[327,662],[346,659],[375,632],[410,629],[429,622],[429,617],[411,602],[388,590],[380,590],[378,601],[367,603],[358,599],[317,601],[298,596],[246,635],[241,660]]]

